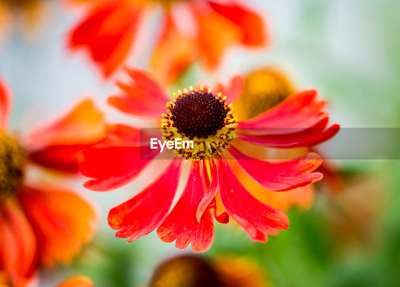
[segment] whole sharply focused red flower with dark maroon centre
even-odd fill
[[[191,87],[190,91],[179,91],[179,95],[174,93],[176,99],[171,101],[152,75],[139,70],[128,70],[128,74],[132,81],[118,83],[120,95],[110,97],[108,102],[134,117],[158,117],[162,129],[155,129],[158,135],[140,135],[136,127],[116,125],[107,143],[81,154],[80,172],[92,178],[85,183],[86,188],[112,190],[136,178],[160,155],[158,149],[149,148],[150,137],[192,139],[194,148],[174,150],[176,160],[164,172],[142,192],[110,210],[108,223],[119,230],[117,237],[133,241],[158,227],[157,234],[163,241],[176,239],[178,248],[192,242],[194,251],[205,251],[214,239],[212,213],[222,223],[227,223],[230,216],[250,238],[261,242],[267,241],[266,234],[275,235],[276,230],[288,228],[286,215],[250,195],[226,157],[236,158],[242,169],[268,190],[291,190],[320,180],[322,174],[312,172],[322,162],[318,154],[310,152],[294,160],[268,162],[250,158],[235,147],[237,138],[286,148],[318,144],[335,135],[339,126],[327,125],[326,103],[318,99],[316,91],[295,93],[258,117],[237,121],[232,104],[226,105],[228,99],[221,93],[214,96],[203,88],[195,91]],[[241,89],[235,88],[240,83],[242,78],[236,77],[230,88],[224,89],[230,98],[237,97],[235,91],[240,93]],[[168,113],[162,114],[165,103]],[[189,162],[178,160],[183,157]],[[186,186],[168,214],[182,166],[186,165],[191,166]]]

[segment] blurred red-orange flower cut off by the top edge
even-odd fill
[[[80,2],[80,1],[78,1]],[[105,77],[126,60],[153,1],[94,0],[91,10],[72,29],[71,49],[87,48]],[[226,49],[241,43],[266,43],[260,17],[236,1],[163,1],[164,20],[157,35],[152,65],[160,79],[172,81],[195,59],[215,68]],[[173,43],[173,45],[171,45]]]

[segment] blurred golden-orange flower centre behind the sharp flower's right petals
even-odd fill
[[[282,73],[266,68],[254,71],[244,79],[244,91],[235,103],[241,120],[251,119],[278,105],[294,92]]]

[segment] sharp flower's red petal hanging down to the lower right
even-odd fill
[[[240,184],[226,160],[218,159],[217,166],[222,204],[250,238],[266,242],[266,234],[276,235],[275,230],[289,227],[282,211],[259,202]]]

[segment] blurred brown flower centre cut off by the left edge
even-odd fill
[[[16,192],[22,178],[24,158],[18,141],[0,131],[0,200]]]

